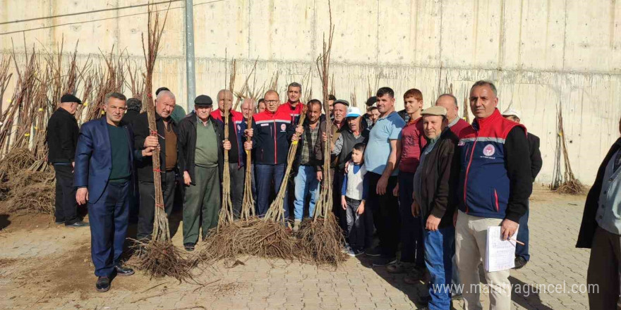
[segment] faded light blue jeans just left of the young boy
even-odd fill
[[[313,217],[315,212],[315,202],[317,202],[317,194],[319,192],[319,181],[317,180],[317,171],[313,166],[300,166],[298,174],[294,180],[296,185],[296,201],[294,202],[294,218],[301,220],[304,213],[304,201],[306,194],[310,194],[310,202],[308,203],[308,216]]]

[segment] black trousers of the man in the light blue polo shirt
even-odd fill
[[[381,175],[368,172],[368,202],[367,205],[373,212],[373,224],[378,230],[380,249],[385,256],[395,256],[399,246],[399,201],[394,197],[392,190],[397,185],[397,176],[388,178],[386,193],[379,195],[375,190]]]

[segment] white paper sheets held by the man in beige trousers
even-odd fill
[[[513,236],[517,236],[517,230]],[[502,240],[500,226],[488,227],[486,271],[502,271],[513,267],[515,267],[515,241]]]

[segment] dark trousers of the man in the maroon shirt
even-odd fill
[[[399,213],[401,213],[401,261],[424,264],[423,225],[420,217],[412,216],[414,173],[399,171]]]

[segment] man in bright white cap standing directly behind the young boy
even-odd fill
[[[339,108],[339,105],[335,106],[335,110]],[[334,196],[338,194],[338,204],[334,205],[334,213],[339,218],[339,225],[343,231],[347,231],[347,218],[346,212],[341,208],[341,189],[343,180],[345,178],[345,164],[351,159],[351,150],[354,145],[362,143],[368,137],[368,132],[362,129],[362,117],[360,109],[356,106],[351,106],[347,109],[345,121],[347,126],[344,126],[344,130],[340,132],[337,141],[332,146],[332,158],[333,163],[336,163],[334,167]],[[335,201],[336,202],[336,201]]]

